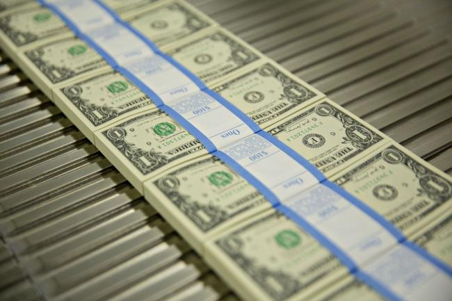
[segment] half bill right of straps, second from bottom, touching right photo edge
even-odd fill
[[[450,208],[451,178],[396,143],[333,180],[410,236]]]

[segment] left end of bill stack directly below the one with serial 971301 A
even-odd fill
[[[210,154],[177,165],[144,184],[145,197],[202,254],[202,244],[271,204]]]

